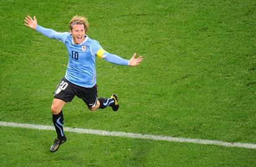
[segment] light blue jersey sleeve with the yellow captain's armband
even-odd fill
[[[129,60],[122,59],[118,55],[110,54],[105,51],[97,41],[95,41],[95,44],[92,47],[92,54],[110,63],[117,65],[129,65]]]

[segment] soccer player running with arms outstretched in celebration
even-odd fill
[[[95,69],[96,57],[117,65],[130,65],[132,67],[139,65],[143,58],[142,56],[136,58],[137,54],[134,53],[130,60],[126,60],[105,51],[98,41],[87,36],[89,24],[87,18],[82,16],[75,15],[69,22],[69,32],[64,33],[58,33],[38,25],[35,16],[32,18],[28,15],[24,21],[24,25],[39,33],[62,41],[66,45],[69,54],[66,75],[59,82],[51,105],[57,138],[51,145],[50,151],[56,152],[59,146],[67,140],[63,131],[64,116],[62,108],[67,102],[71,102],[74,96],[82,99],[92,111],[109,106],[116,112],[119,108],[116,94],[113,94],[110,98],[98,98]]]

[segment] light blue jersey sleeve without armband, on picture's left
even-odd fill
[[[48,38],[58,39],[59,41],[64,41],[69,33],[58,33],[55,30],[49,28],[44,28],[43,26],[37,25],[36,31],[40,32],[42,35],[47,36]]]

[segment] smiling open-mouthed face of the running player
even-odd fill
[[[73,36],[75,44],[81,44],[85,40],[84,25],[73,25],[73,29],[72,31],[70,30],[70,33]]]

